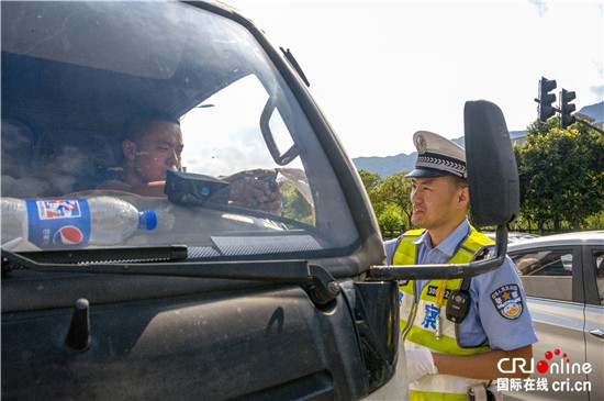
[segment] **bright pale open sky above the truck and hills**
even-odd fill
[[[224,0],[290,48],[350,157],[415,152],[427,130],[463,135],[485,99],[510,131],[537,119],[538,81],[604,100],[604,0]]]

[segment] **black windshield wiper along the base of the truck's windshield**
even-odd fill
[[[141,263],[141,259],[149,260],[149,252],[154,252],[156,259],[161,261]],[[97,256],[92,257],[92,255]],[[33,259],[34,257],[36,260]],[[183,245],[19,254],[2,249],[2,271],[26,269],[45,272],[146,275],[299,283],[304,285],[313,302],[318,305],[336,299],[339,293],[339,286],[335,278],[327,270],[310,264],[309,260],[182,261],[186,257],[187,247]]]

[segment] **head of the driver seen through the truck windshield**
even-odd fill
[[[153,121],[136,143],[134,168],[143,182],[165,181],[166,171],[180,168],[182,133],[178,124]]]

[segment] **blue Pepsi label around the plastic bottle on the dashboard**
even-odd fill
[[[29,240],[36,245],[88,244],[90,209],[86,200],[27,200]]]

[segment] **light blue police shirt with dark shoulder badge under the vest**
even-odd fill
[[[424,232],[413,242],[418,245],[417,263],[420,265],[446,263],[454,256],[469,230],[470,223],[466,219],[437,247],[432,246],[427,231]],[[398,246],[398,238],[384,243],[390,265]],[[420,293],[428,281],[416,280],[415,293]],[[472,299],[470,311],[458,327],[462,346],[478,346],[489,338],[491,349],[510,350],[538,341],[526,307],[526,296],[521,278],[516,266],[508,257],[500,268],[472,277],[469,291]],[[510,303],[510,300],[516,302]]]

